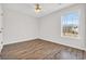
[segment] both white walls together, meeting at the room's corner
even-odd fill
[[[57,43],[71,46],[74,48],[85,49],[85,10],[83,4],[69,7],[60,11],[56,11],[42,17],[32,17],[27,14],[4,9],[3,26],[4,26],[4,44],[24,40],[40,38]],[[79,10],[81,14],[81,39],[72,39],[61,37],[60,16],[64,12]]]

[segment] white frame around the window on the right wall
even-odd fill
[[[71,37],[71,36],[64,36],[63,35],[63,23],[62,23],[62,17],[64,15],[67,15],[70,13],[77,13],[78,14],[78,37]],[[61,14],[61,37],[65,37],[65,38],[72,38],[72,39],[79,39],[81,38],[81,10],[77,9],[77,10],[72,10],[72,11],[66,11],[66,12],[63,12]]]

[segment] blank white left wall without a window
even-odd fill
[[[17,11],[4,9],[4,44],[35,39],[38,36],[38,23],[36,17]]]

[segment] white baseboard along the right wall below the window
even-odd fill
[[[67,44],[67,43],[62,43],[62,42],[59,42],[59,41],[53,41],[51,39],[45,39],[45,38],[40,38],[41,40],[47,40],[47,41],[51,41],[53,43],[59,43],[59,44],[63,44],[63,46],[67,46],[67,47],[72,47],[72,48],[75,48],[75,49],[79,49],[79,50],[84,50],[86,51],[86,48],[83,48],[83,47],[78,47],[78,46],[71,46],[71,44]]]

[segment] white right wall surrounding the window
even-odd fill
[[[49,41],[53,41],[57,43],[85,49],[85,10],[83,9],[83,4],[69,7],[66,9],[62,9],[60,11],[53,12],[47,16],[40,18],[40,38]],[[72,39],[61,37],[61,14],[64,12],[70,11],[81,11],[81,38],[79,39]]]

